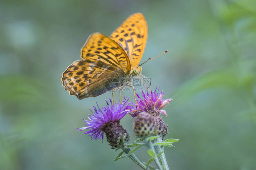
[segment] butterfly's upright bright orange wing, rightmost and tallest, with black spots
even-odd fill
[[[110,36],[127,53],[132,68],[138,66],[146,47],[148,26],[145,17],[136,13],[127,18]]]

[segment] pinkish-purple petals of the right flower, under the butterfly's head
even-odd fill
[[[144,100],[138,95],[138,106],[134,103],[131,103],[133,106],[128,106],[127,109],[130,110],[129,114],[132,117],[136,117],[140,112],[147,112],[147,110],[157,110],[159,111],[159,113],[162,113],[164,115],[166,115],[166,117],[168,116],[165,110],[161,110],[163,107],[165,107],[172,99],[171,98],[167,98],[166,100],[163,100],[163,90],[161,91],[161,93],[159,93],[159,88],[155,91],[151,90],[151,93],[147,92],[144,93],[142,90],[142,97],[144,98]]]

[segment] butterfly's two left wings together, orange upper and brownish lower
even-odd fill
[[[84,59],[68,66],[61,79],[65,90],[79,99],[96,97],[122,86],[131,70],[124,50],[103,34],[92,34],[81,53]]]

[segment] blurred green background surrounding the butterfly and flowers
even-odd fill
[[[256,169],[254,0],[1,0],[0,169],[140,169],[75,129],[111,93],[78,100],[60,81],[90,34],[110,35],[136,12],[149,27],[142,61],[169,51],[143,75],[173,98],[167,138],[181,141],[166,148],[170,169]],[[121,123],[134,140],[132,121]]]

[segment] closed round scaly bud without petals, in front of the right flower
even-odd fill
[[[133,122],[133,131],[138,137],[153,136],[156,128],[156,121],[147,112],[141,112]]]

